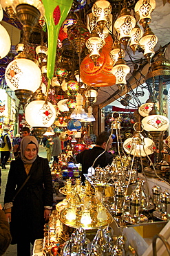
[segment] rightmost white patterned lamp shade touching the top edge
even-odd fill
[[[151,12],[156,8],[155,0],[139,0],[135,5],[135,12],[139,15],[139,23],[143,24],[143,21],[147,24],[151,21]]]

